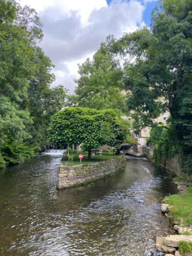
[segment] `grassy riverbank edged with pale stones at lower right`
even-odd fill
[[[192,255],[192,187],[177,183],[179,195],[165,197],[161,211],[168,218],[174,235],[156,238],[156,248],[177,256]],[[165,254],[166,255],[166,254]]]

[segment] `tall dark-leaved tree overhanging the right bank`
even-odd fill
[[[160,113],[170,113],[169,127],[192,160],[192,2],[164,0],[144,27],[118,40],[125,62],[127,106],[135,128],[154,126]],[[192,161],[191,161],[192,162]]]

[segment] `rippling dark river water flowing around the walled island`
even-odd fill
[[[175,193],[144,159],[98,182],[56,190],[61,155],[41,154],[0,171],[0,255],[163,255],[160,212]]]

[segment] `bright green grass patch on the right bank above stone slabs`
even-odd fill
[[[192,224],[192,187],[188,187],[183,195],[172,195],[164,199],[166,204],[172,205],[170,216],[182,226]]]

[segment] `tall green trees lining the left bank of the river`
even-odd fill
[[[50,116],[66,97],[50,89],[52,63],[37,46],[42,24],[33,9],[0,0],[0,167],[45,147]]]

